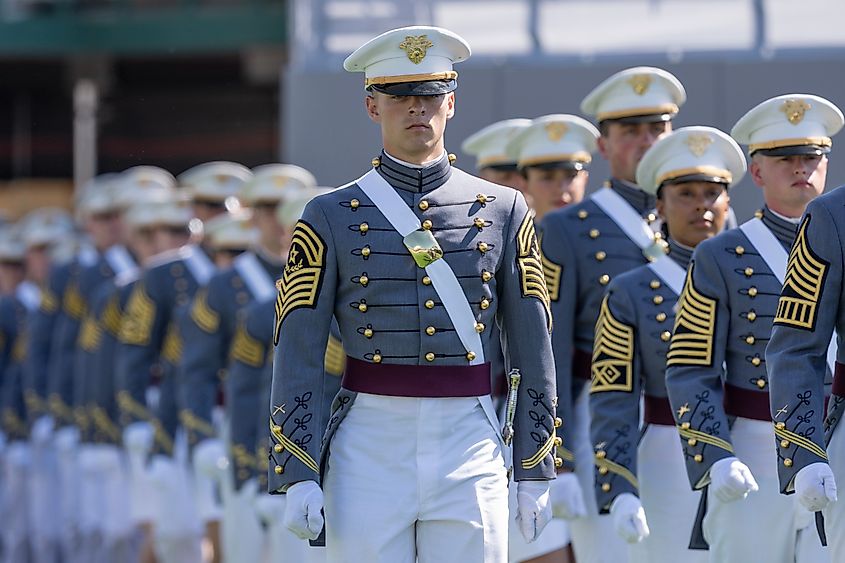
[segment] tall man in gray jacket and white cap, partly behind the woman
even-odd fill
[[[645,151],[672,130],[671,120],[685,100],[673,75],[651,67],[623,70],[590,92],[581,110],[599,123],[598,148],[610,165],[609,185],[578,205],[549,213],[541,224],[555,320],[558,408],[568,421],[564,473],[555,481],[552,503],[559,515],[574,518],[583,513],[586,500],[586,517],[570,525],[579,561],[626,558],[625,543],[610,518],[599,516],[593,495],[587,385],[593,333],[607,284],[663,252],[648,227],[656,219],[654,196],[636,185],[636,170]]]

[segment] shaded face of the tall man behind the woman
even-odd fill
[[[610,122],[599,137],[599,152],[610,165],[610,175],[635,183],[637,165],[658,139],[672,132],[671,121],[657,123]]]

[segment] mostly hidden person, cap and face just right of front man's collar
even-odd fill
[[[505,148],[514,135],[531,125],[530,119],[505,119],[473,133],[461,144],[461,150],[475,157],[478,177],[523,191],[525,178]]]

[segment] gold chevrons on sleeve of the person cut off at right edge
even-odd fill
[[[819,297],[829,263],[818,257],[810,248],[807,240],[810,219],[809,215],[804,218],[789,253],[786,279],[774,322],[812,331],[816,326]]]

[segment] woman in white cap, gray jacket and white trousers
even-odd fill
[[[622,539],[642,542],[631,546],[632,561],[707,558],[687,548],[699,495],[684,478],[666,397],[666,352],[692,250],[724,228],[728,187],[745,169],[742,149],[711,127],[684,127],[663,137],[637,167],[637,184],[657,196],[667,256],[608,285],[596,323],[590,386],[596,501],[601,512],[610,512]]]

